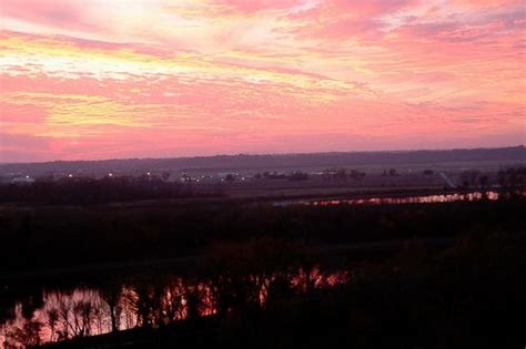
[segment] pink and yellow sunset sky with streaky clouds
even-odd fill
[[[525,0],[0,0],[0,162],[525,142]]]

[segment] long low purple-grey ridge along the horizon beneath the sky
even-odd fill
[[[503,161],[526,163],[524,145],[498,148],[328,152],[307,154],[214,155],[173,158],[124,158],[100,161],[54,161],[45,163],[0,164],[0,173],[43,174],[77,171],[104,173],[108,171],[143,172],[149,170],[235,170],[280,168],[306,166],[358,166],[403,163],[444,163],[469,161]]]

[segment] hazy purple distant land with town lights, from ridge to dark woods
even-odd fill
[[[0,165],[0,191],[3,191],[0,201],[16,202],[18,197],[68,203],[69,196],[77,195],[71,203],[100,203],[111,201],[110,193],[117,201],[418,195],[499,188],[507,181],[506,171],[525,165],[524,146],[3,164]]]

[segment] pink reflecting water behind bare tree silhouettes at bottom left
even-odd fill
[[[23,316],[22,302],[14,306],[14,318],[0,328],[0,347],[23,348],[135,327],[158,328],[182,319],[230,311],[254,300],[264,307],[269,298],[279,292],[276,285],[283,281],[290,291],[308,294],[346,283],[348,278],[347,271],[322,271],[316,266],[270,277],[249,275],[243,280],[199,281],[173,277],[163,284],[44,290],[43,306],[30,318]]]

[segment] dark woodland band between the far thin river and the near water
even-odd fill
[[[321,246],[518,229],[524,208],[520,197],[385,206],[276,207],[231,199],[3,206],[0,273],[180,258],[212,244],[261,237]]]

